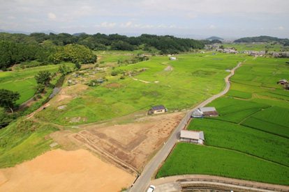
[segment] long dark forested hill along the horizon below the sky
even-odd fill
[[[68,44],[84,45],[91,50],[128,50],[147,49],[149,47],[156,47],[161,51],[161,54],[177,54],[183,51],[191,51],[192,49],[202,49],[204,44],[202,42],[192,40],[175,38],[172,35],[147,35],[142,34],[138,37],[127,37],[126,35],[111,34],[105,35],[96,33],[88,35],[86,33],[79,33],[71,35],[68,33],[60,33],[58,35],[50,33],[31,33],[24,34],[10,34],[0,33],[0,40],[8,40],[24,45],[39,45],[42,47],[51,47],[52,45],[64,46]]]

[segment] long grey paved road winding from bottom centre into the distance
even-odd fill
[[[149,181],[151,180],[151,177],[154,175],[154,172],[158,169],[158,166],[161,165],[162,161],[164,161],[165,158],[168,157],[170,150],[172,150],[172,147],[174,147],[175,143],[177,142],[177,139],[179,138],[179,131],[181,131],[181,129],[183,129],[186,126],[189,118],[191,118],[191,113],[193,113],[195,109],[206,106],[207,104],[212,102],[214,99],[221,97],[222,95],[225,95],[225,93],[227,93],[230,88],[229,78],[232,77],[232,75],[234,75],[235,70],[241,64],[242,62],[239,63],[237,67],[231,70],[231,73],[228,75],[228,77],[225,77],[225,83],[226,83],[225,90],[223,90],[218,95],[214,95],[213,97],[210,97],[209,99],[205,100],[204,102],[202,102],[201,104],[199,104],[194,109],[188,112],[188,114],[183,118],[183,120],[181,120],[181,122],[177,126],[177,129],[175,129],[175,131],[172,133],[172,136],[170,136],[167,143],[165,143],[163,148],[156,154],[156,156],[153,159],[151,159],[151,161],[149,161],[147,166],[145,166],[144,170],[142,171],[142,174],[140,175],[140,177],[138,177],[138,180],[135,182],[135,184],[133,184],[129,192],[142,192],[147,189]]]

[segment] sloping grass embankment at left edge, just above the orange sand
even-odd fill
[[[0,129],[0,168],[15,166],[50,150],[48,136],[58,127],[40,125],[31,120],[19,120]]]

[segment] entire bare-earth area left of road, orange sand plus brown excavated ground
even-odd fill
[[[132,114],[130,123],[114,120],[50,134],[61,149],[13,168],[0,169],[1,191],[110,191],[128,188],[184,113]],[[115,121],[117,122],[117,121]]]

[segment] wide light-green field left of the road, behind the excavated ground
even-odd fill
[[[123,57],[126,56],[119,56]],[[190,54],[180,55],[177,61],[170,61],[168,56],[152,56],[149,61],[118,65],[117,56],[113,56],[110,62],[114,62],[114,67],[96,72],[94,77],[85,76],[87,79],[105,77],[108,81],[87,88],[81,97],[61,103],[67,105],[61,111],[55,105],[36,116],[59,125],[80,125],[149,110],[155,105],[164,105],[169,111],[190,109],[205,99],[205,95],[221,92],[225,86],[223,79],[229,73],[225,70],[244,60],[242,55]],[[113,71],[132,75],[121,79],[124,74],[112,76]],[[85,120],[71,122],[79,117]]]

